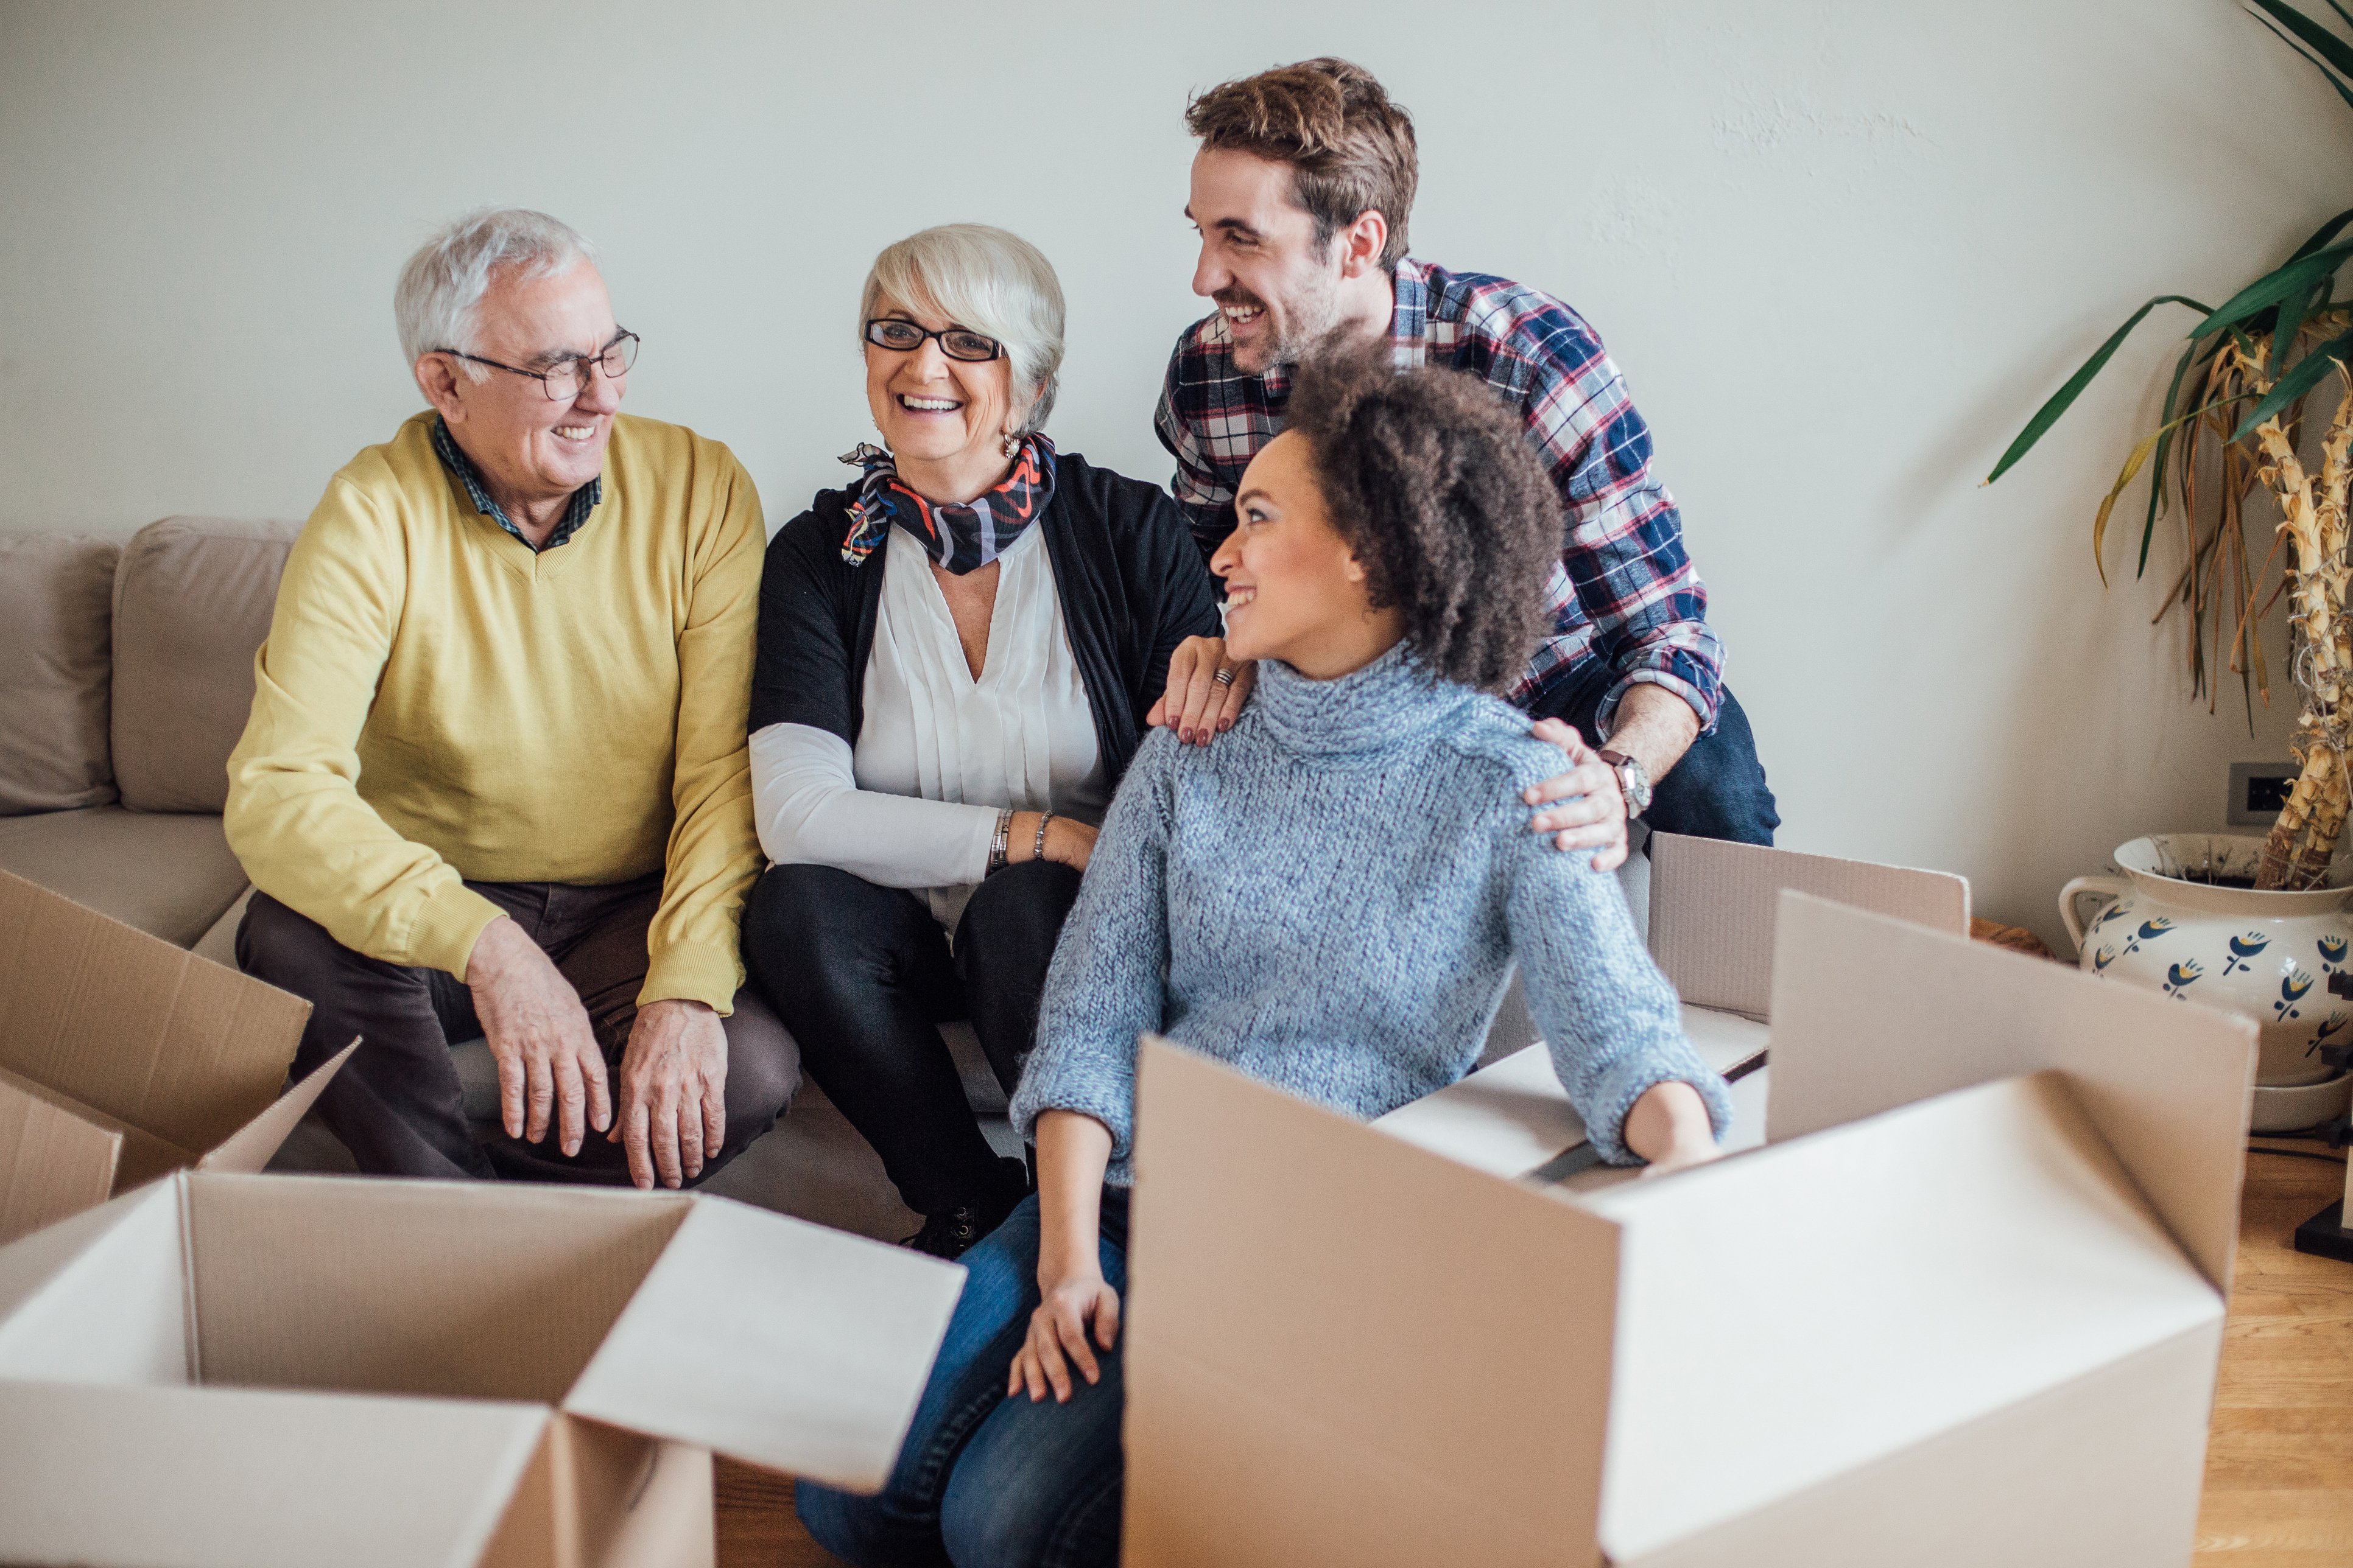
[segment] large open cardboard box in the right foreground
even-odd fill
[[[1148,1041],[1125,1561],[2186,1563],[2254,1025],[1795,893],[1772,1020],[1588,1197]]]

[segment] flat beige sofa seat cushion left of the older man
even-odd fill
[[[122,806],[0,818],[0,870],[181,947],[245,891],[221,818]]]

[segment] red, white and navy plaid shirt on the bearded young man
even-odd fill
[[[1485,378],[1520,409],[1560,489],[1565,541],[1546,588],[1553,632],[1511,698],[1558,712],[1607,684],[1598,710],[1607,733],[1626,689],[1649,682],[1713,729],[1725,649],[1708,630],[1708,590],[1682,550],[1675,498],[1652,475],[1649,425],[1600,339],[1548,294],[1414,259],[1398,263],[1395,299],[1398,369],[1449,364]],[[1155,425],[1202,552],[1233,531],[1233,491],[1282,430],[1289,395],[1289,367],[1235,369],[1224,315],[1176,339]]]

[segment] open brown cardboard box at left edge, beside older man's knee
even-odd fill
[[[0,872],[0,1241],[167,1171],[259,1171],[311,1004]]]

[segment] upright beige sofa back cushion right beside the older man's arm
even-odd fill
[[[115,569],[115,788],[132,811],[219,811],[296,522],[165,517]]]

